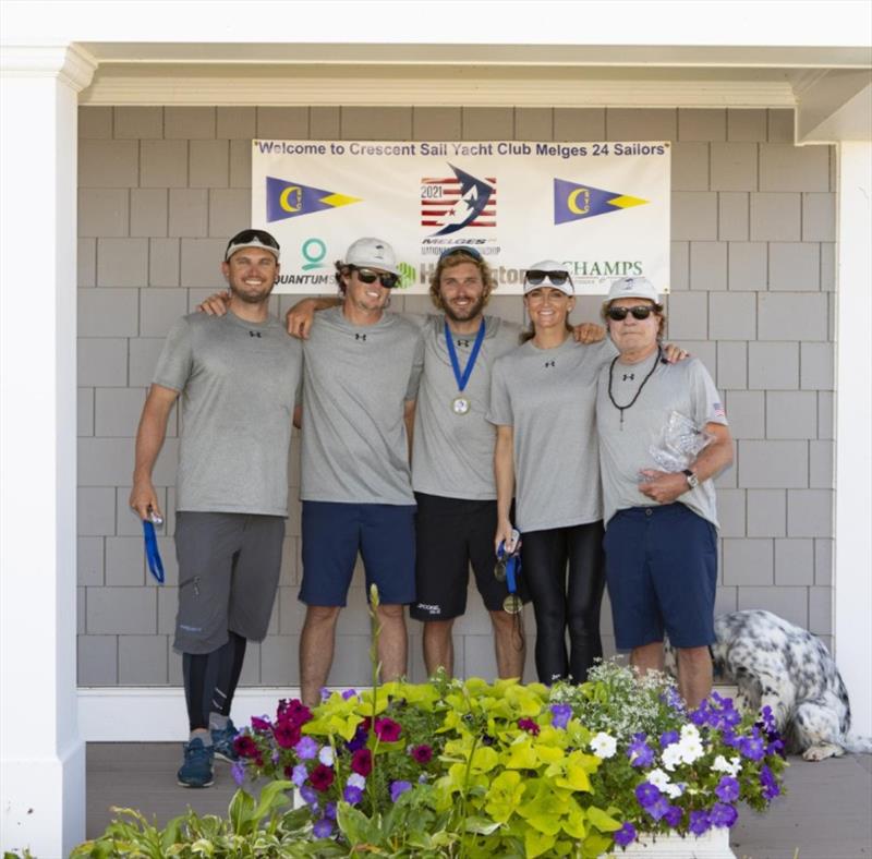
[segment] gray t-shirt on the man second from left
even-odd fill
[[[352,325],[331,307],[315,314],[303,353],[300,497],[414,504],[403,408],[424,364],[419,327],[393,313]]]

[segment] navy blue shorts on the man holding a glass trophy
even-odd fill
[[[663,641],[715,641],[717,531],[680,503],[619,510],[603,541],[615,643],[631,650]]]

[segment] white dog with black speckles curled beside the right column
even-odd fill
[[[715,618],[715,677],[732,682],[740,712],[770,706],[787,749],[807,761],[872,752],[872,738],[850,735],[848,691],[836,663],[811,632],[761,609]],[[666,642],[666,669],[675,653]]]

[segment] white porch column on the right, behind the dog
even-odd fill
[[[872,734],[872,142],[838,146],[836,661],[852,728]]]

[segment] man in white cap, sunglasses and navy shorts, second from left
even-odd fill
[[[384,313],[400,282],[387,242],[359,239],[336,267],[341,306],[317,314],[303,347],[300,680],[310,706],[330,672],[358,552],[367,594],[370,584],[378,585],[385,680],[405,674],[403,606],[415,596],[409,445],[424,361],[421,331]]]

